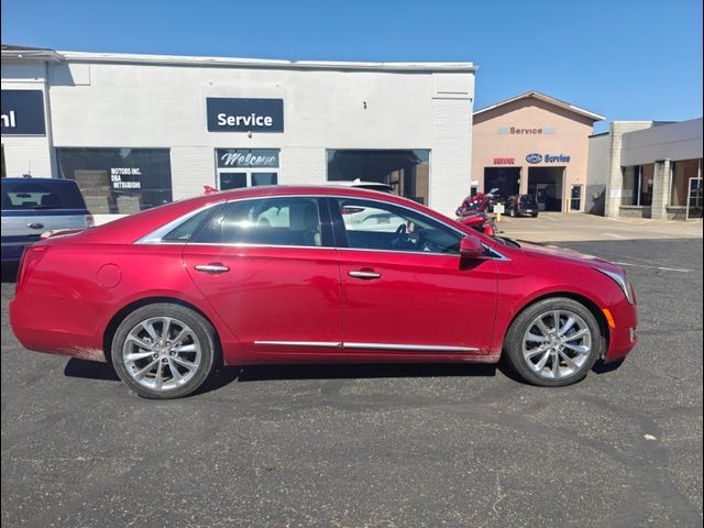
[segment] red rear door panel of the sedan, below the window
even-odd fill
[[[260,352],[299,352],[256,341],[340,341],[340,275],[331,248],[188,244],[184,263],[242,344]],[[226,272],[196,271],[217,265]]]

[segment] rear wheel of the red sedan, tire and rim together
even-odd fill
[[[124,318],[111,352],[118,375],[140,396],[177,398],[193,393],[212,372],[216,336],[196,311],[158,302]]]

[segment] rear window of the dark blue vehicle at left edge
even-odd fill
[[[2,210],[86,209],[75,182],[2,182]]]

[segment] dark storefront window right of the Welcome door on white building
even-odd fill
[[[327,151],[328,182],[378,182],[428,205],[430,151]]]

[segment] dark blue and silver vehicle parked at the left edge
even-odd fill
[[[2,263],[19,262],[42,233],[94,224],[72,179],[2,178]]]

